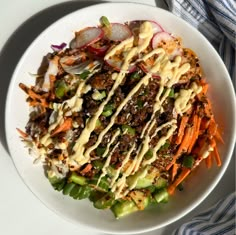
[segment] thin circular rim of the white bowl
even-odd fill
[[[11,81],[10,81],[10,85],[8,87],[8,92],[7,92],[7,98],[6,98],[6,109],[5,109],[5,133],[6,133],[6,139],[7,139],[7,145],[8,145],[8,148],[9,148],[9,152],[10,152],[10,155],[12,156],[12,160],[13,160],[13,164],[20,176],[20,178],[22,179],[22,181],[24,182],[24,184],[29,188],[29,190],[41,201],[41,203],[46,206],[49,210],[53,211],[55,214],[58,215],[58,217],[60,218],[63,218],[64,220],[66,221],[69,221],[69,222],[72,222],[73,224],[75,225],[79,225],[81,226],[82,228],[84,229],[89,229],[89,230],[92,230],[92,231],[96,231],[96,232],[103,232],[103,233],[110,233],[110,234],[139,234],[139,233],[143,233],[143,232],[149,232],[149,231],[153,231],[155,229],[158,229],[158,228],[162,228],[164,226],[167,226],[177,220],[179,220],[180,218],[182,218],[183,216],[185,216],[187,213],[189,213],[191,210],[195,209],[212,191],[213,189],[216,187],[216,185],[219,183],[220,179],[222,178],[222,176],[224,175],[228,165],[229,165],[229,162],[231,160],[231,157],[232,157],[232,154],[233,154],[233,149],[234,149],[234,143],[235,143],[235,140],[236,140],[236,107],[234,106],[233,107],[233,113],[232,113],[232,116],[233,116],[233,120],[235,120],[235,122],[233,123],[232,125],[232,129],[233,129],[233,137],[232,137],[232,140],[230,143],[230,149],[228,151],[229,153],[229,156],[225,159],[224,161],[224,165],[222,166],[221,168],[221,171],[219,173],[219,175],[214,179],[213,183],[210,185],[209,189],[204,192],[204,194],[198,198],[197,200],[195,200],[194,204],[191,204],[189,205],[188,207],[185,208],[185,210],[178,216],[174,216],[173,218],[169,219],[167,222],[165,223],[162,223],[161,225],[153,225],[153,226],[149,226],[148,228],[143,228],[143,229],[138,229],[138,230],[127,230],[127,231],[122,231],[122,232],[119,232],[119,231],[113,231],[111,229],[100,229],[100,228],[95,228],[95,227],[92,227],[92,226],[89,226],[89,225],[85,225],[85,224],[82,224],[80,223],[79,221],[78,222],[75,222],[74,220],[72,219],[69,219],[67,216],[63,215],[62,213],[60,213],[59,211],[56,211],[53,207],[51,207],[50,205],[48,205],[47,202],[45,202],[44,200],[42,200],[39,195],[37,195],[30,187],[30,185],[28,185],[24,178],[22,177],[22,174],[21,172],[18,170],[17,168],[17,165],[14,161],[14,157],[13,157],[13,153],[11,151],[11,140],[10,140],[10,136],[9,136],[9,133],[8,133],[8,126],[10,126],[10,123],[8,123],[8,115],[9,115],[9,112],[10,112],[10,96],[11,96],[11,90],[14,88],[14,81],[17,77],[17,73],[18,73],[18,70],[21,68],[22,66],[22,63],[24,63],[24,60],[25,58],[27,57],[28,53],[30,52],[30,50],[34,47],[34,45],[37,43],[37,41],[44,35],[44,34],[47,34],[48,31],[50,31],[50,29],[52,27],[54,27],[54,25],[58,24],[60,21],[63,21],[65,20],[68,16],[72,16],[72,15],[75,15],[75,14],[78,14],[79,12],[81,11],[84,11],[84,10],[89,10],[89,9],[92,9],[92,8],[98,8],[98,7],[103,7],[103,6],[108,6],[110,5],[111,7],[114,7],[115,5],[122,5],[122,6],[127,6],[127,5],[133,5],[134,7],[137,6],[137,5],[142,5],[144,8],[146,9],[149,9],[149,8],[156,8],[157,11],[164,11],[165,14],[169,14],[169,15],[174,15],[173,13],[167,11],[167,10],[164,10],[162,8],[158,8],[158,7],[155,7],[155,6],[150,6],[150,5],[147,5],[147,4],[143,4],[143,3],[131,3],[131,2],[110,2],[110,3],[97,3],[97,4],[94,4],[92,6],[87,6],[87,7],[84,7],[84,8],[81,8],[79,10],[75,10],[69,14],[66,14],[65,16],[59,18],[57,21],[55,21],[54,23],[50,24],[46,29],[44,29],[38,36],[36,36],[36,38],[30,43],[30,45],[28,46],[28,48],[26,49],[26,51],[24,52],[24,54],[21,56],[20,60],[18,61],[17,63],[17,66],[14,70],[14,73],[11,77]],[[215,55],[218,57],[218,60],[219,62],[221,63],[222,65],[222,69],[224,70],[224,73],[226,75],[225,79],[227,79],[228,83],[230,84],[230,90],[229,92],[232,95],[233,97],[233,104],[236,104],[236,98],[235,98],[235,93],[234,93],[234,88],[233,88],[233,83],[232,83],[232,80],[229,76],[229,73],[222,61],[222,59],[220,58],[220,56],[218,55],[218,53],[216,52],[215,48],[210,44],[210,42],[196,29],[194,28],[193,26],[191,26],[188,22],[186,22],[185,20],[181,19],[180,17],[174,15],[176,18],[178,18],[178,20],[181,22],[181,24],[183,25],[187,25],[188,27],[190,27],[192,30],[194,30],[195,32],[197,32],[198,34],[200,34],[199,36],[201,36],[202,40],[204,41],[205,44],[207,44],[207,47],[210,47],[211,48],[211,51],[213,53],[215,53]]]

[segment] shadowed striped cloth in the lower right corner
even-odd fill
[[[173,235],[235,235],[236,193],[194,217],[173,232]]]

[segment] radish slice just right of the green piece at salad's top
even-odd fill
[[[113,23],[111,28],[107,29],[106,36],[112,41],[123,41],[132,36],[132,33],[127,25]]]

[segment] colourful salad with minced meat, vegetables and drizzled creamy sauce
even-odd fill
[[[117,219],[168,203],[224,143],[197,54],[154,20],[78,29],[52,45],[34,85],[24,144],[53,188]],[[78,202],[80,203],[80,202]]]

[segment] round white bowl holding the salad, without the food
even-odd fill
[[[116,220],[110,211],[93,208],[88,200],[75,201],[54,191],[44,175],[42,166],[33,165],[27,149],[20,141],[16,127],[24,129],[28,120],[28,105],[19,82],[32,84],[29,72],[36,73],[42,57],[51,44],[69,42],[75,30],[97,25],[105,15],[112,22],[146,19],[156,20],[168,32],[182,37],[184,46],[199,56],[207,81],[216,120],[224,130],[224,145],[219,147],[222,166],[207,170],[199,167],[187,180],[185,190],[176,192],[169,203]],[[233,151],[236,133],[235,96],[228,72],[210,43],[193,27],[171,13],[156,7],[134,3],[99,4],[73,12],[42,32],[21,58],[11,80],[7,97],[6,133],[15,166],[30,190],[49,209],[80,227],[106,233],[141,233],[170,224],[193,210],[214,189],[223,176]]]

